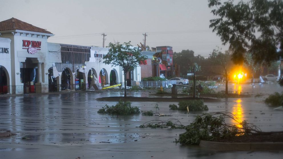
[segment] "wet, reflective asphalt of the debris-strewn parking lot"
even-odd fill
[[[219,85],[216,91],[225,89]],[[184,129],[150,129],[138,126],[150,120],[174,118],[183,125],[196,115],[226,111],[240,121],[253,123],[262,131],[282,131],[283,111],[273,110],[263,100],[283,88],[270,84],[229,84],[230,91],[251,95],[248,98],[221,99],[205,103],[209,111],[169,110],[177,102],[132,102],[143,111],[156,111],[170,117],[140,115],[105,115],[97,111],[113,101],[96,101],[98,97],[123,96],[123,90],[68,92],[0,96],[0,129],[15,133],[0,138],[0,158],[282,158],[283,152],[217,152],[199,146],[176,144]],[[130,96],[148,97],[151,91],[129,92]],[[257,95],[258,97],[255,97]],[[233,123],[232,121],[227,121]]]

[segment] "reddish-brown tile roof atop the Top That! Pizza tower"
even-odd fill
[[[29,23],[20,21],[19,19],[16,18],[11,18],[5,21],[0,22],[0,31],[4,30],[26,30],[26,31],[33,31],[33,32],[42,32],[42,33],[47,33],[47,34],[52,34],[51,32],[33,26]]]

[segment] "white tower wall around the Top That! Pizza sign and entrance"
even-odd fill
[[[2,33],[2,37],[11,39],[11,79],[12,79],[12,93],[23,94],[23,83],[21,83],[20,62],[25,62],[26,58],[37,58],[38,62],[43,63],[41,70],[41,85],[42,92],[48,92],[48,75],[46,75],[47,68],[47,38],[52,34],[45,34],[39,32],[30,32],[23,30],[15,30],[14,32]],[[41,50],[35,54],[29,54],[27,49],[23,49],[23,40],[40,41]]]

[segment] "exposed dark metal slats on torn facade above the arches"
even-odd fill
[[[70,68],[72,72],[76,72],[78,67],[85,66],[85,62],[89,61],[91,47],[66,44],[60,45],[62,63],[55,64],[59,72],[65,67]]]

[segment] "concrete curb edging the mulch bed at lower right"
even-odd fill
[[[201,140],[200,147],[217,151],[283,151],[283,142],[213,142]]]

